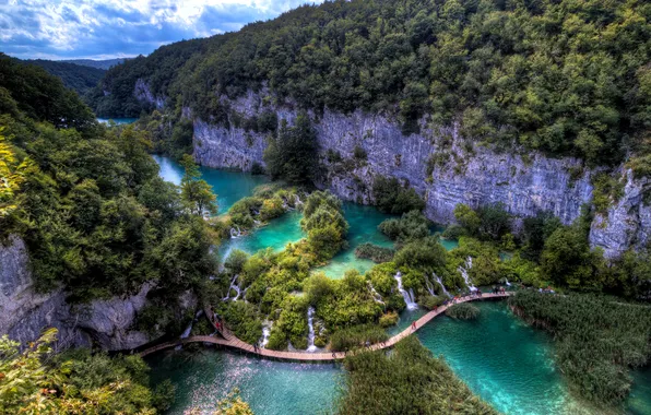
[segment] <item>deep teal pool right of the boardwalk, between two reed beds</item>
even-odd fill
[[[504,301],[476,306],[482,310],[476,321],[441,316],[418,337],[501,413],[582,413],[555,368],[552,340],[518,320]]]

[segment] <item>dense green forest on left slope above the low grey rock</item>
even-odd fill
[[[214,271],[201,212],[214,194],[196,176],[180,192],[163,181],[146,132],[105,129],[58,78],[7,57],[0,109],[11,181],[0,237],[24,238],[40,289],[64,285],[71,300],[86,301],[156,281],[174,299]]]

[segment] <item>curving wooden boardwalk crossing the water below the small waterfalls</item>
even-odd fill
[[[467,303],[467,301],[475,301],[475,300],[483,300],[483,299],[492,299],[492,298],[505,298],[514,293],[507,292],[505,294],[484,294],[481,297],[462,297],[460,298],[457,304],[460,303]],[[449,306],[441,306],[437,310],[431,310],[425,316],[421,317],[416,320],[415,329],[411,325],[410,328],[403,330],[399,334],[394,335],[393,337],[387,340],[383,343],[376,343],[367,347],[370,351],[379,351],[382,348],[390,348],[395,345],[395,343],[400,342],[404,337],[409,336],[410,334],[414,333],[423,325],[427,324],[431,321],[435,317],[440,316],[443,313]],[[241,340],[237,339],[233,334],[225,333],[226,339],[212,336],[212,335],[193,335],[190,337],[186,337],[178,341],[162,343],[156,346],[150,347],[144,349],[140,353],[140,356],[146,356],[151,353],[162,351],[164,348],[176,347],[179,345],[188,344],[188,343],[212,343],[217,344],[220,346],[230,347],[235,349],[239,349],[246,353],[251,353],[261,357],[270,358],[270,359],[277,359],[277,360],[294,360],[294,361],[333,361],[333,360],[341,360],[346,357],[345,352],[336,352],[336,353],[329,353],[329,352],[318,352],[318,353],[310,353],[310,352],[279,352],[279,351],[270,351],[267,348],[258,348],[257,351],[253,349],[251,344],[245,343]]]

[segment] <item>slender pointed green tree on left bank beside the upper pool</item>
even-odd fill
[[[186,174],[181,179],[181,200],[196,215],[215,215],[217,213],[217,197],[205,180],[200,179],[199,166],[191,155],[184,155],[181,165]]]

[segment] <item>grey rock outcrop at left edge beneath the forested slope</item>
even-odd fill
[[[0,335],[25,343],[54,327],[59,330],[58,349],[138,347],[151,341],[132,329],[150,289],[151,285],[144,285],[134,296],[96,300],[83,307],[69,305],[62,289],[39,294],[34,289],[25,244],[12,236],[5,246],[0,245]]]

